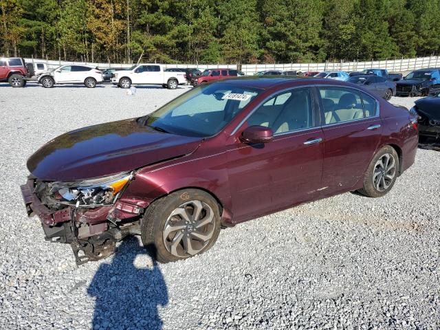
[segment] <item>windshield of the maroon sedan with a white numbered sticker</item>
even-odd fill
[[[227,83],[201,85],[151,113],[146,124],[171,134],[212,136],[261,91]]]

